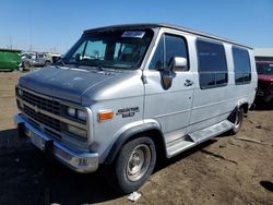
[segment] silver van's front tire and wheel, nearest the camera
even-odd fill
[[[155,161],[156,149],[150,137],[142,136],[126,143],[111,167],[109,185],[126,194],[140,189],[153,172]]]

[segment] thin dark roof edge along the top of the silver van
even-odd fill
[[[190,33],[190,34],[194,34],[198,36],[202,36],[202,37],[206,37],[206,38],[211,38],[211,39],[215,39],[215,40],[221,40],[224,43],[229,43],[236,46],[240,46],[240,47],[245,47],[248,49],[252,49],[249,46],[246,45],[241,45],[238,43],[235,43],[233,40],[229,40],[227,38],[223,38],[223,37],[218,37],[218,36],[214,36],[211,34],[206,34],[203,32],[198,32],[198,31],[193,31],[187,27],[181,27],[181,26],[177,26],[177,25],[173,25],[173,24],[166,24],[166,23],[158,23],[158,24],[152,24],[152,23],[144,23],[144,24],[120,24],[120,25],[111,25],[111,26],[104,26],[104,27],[96,27],[96,28],[92,28],[92,29],[86,29],[84,31],[84,34],[86,33],[91,33],[91,32],[103,32],[103,31],[108,31],[108,29],[143,29],[143,28],[158,28],[158,27],[166,27],[166,28],[173,28],[173,29],[178,29],[178,31],[182,31],[186,33]]]

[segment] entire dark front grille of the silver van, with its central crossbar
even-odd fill
[[[84,130],[86,123],[73,120],[62,111],[64,102],[16,87],[17,107],[29,123],[44,133],[61,140],[67,133],[67,124],[73,124]]]

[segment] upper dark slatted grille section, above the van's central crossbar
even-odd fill
[[[23,100],[48,112],[60,114],[60,102],[23,91]]]

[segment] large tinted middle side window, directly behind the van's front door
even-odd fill
[[[199,83],[201,88],[213,88],[227,84],[225,48],[221,44],[197,41]]]

